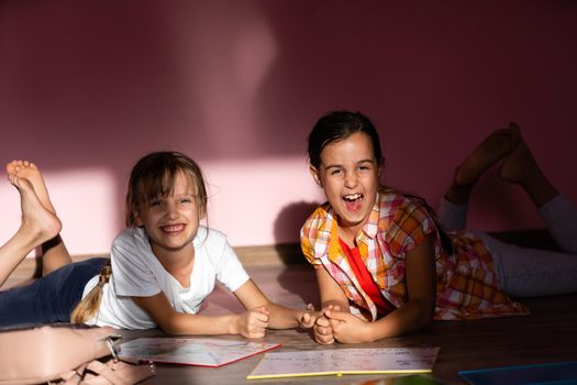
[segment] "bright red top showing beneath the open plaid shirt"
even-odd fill
[[[395,306],[382,296],[380,288],[378,287],[375,279],[373,279],[373,275],[368,271],[367,265],[365,265],[365,262],[360,256],[360,250],[358,248],[348,248],[348,245],[343,242],[341,238],[339,238],[339,243],[346,255],[348,264],[351,265],[356,279],[360,284],[360,287],[377,306],[377,312],[384,316],[395,310]]]

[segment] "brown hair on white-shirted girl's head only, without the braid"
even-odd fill
[[[198,164],[176,151],[151,153],[132,168],[126,193],[126,226],[136,224],[136,216],[143,205],[173,193],[176,175],[181,172],[196,184],[196,199],[201,215],[207,213],[207,188]]]

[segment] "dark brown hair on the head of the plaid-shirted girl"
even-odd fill
[[[360,112],[334,111],[325,114],[309,134],[309,162],[314,168],[321,166],[321,153],[326,145],[342,141],[356,132],[364,132],[370,138],[373,152],[377,163],[382,161],[380,140],[377,129],[370,120]]]

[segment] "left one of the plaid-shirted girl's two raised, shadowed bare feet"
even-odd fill
[[[455,169],[453,183],[445,194],[445,199],[453,205],[466,205],[479,177],[511,154],[520,142],[519,127],[514,123],[510,123],[507,129],[493,131]]]

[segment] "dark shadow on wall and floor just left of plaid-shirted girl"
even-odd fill
[[[304,302],[313,302],[317,306],[319,298],[317,293],[310,293],[310,285],[295,285],[296,280],[314,279],[312,266],[309,266],[297,243],[279,243],[278,240],[286,239],[285,234],[300,234],[300,228],[309,216],[319,206],[319,202],[299,201],[285,206],[275,220],[275,249],[285,265],[301,264],[297,270],[284,270],[277,280],[279,285],[299,296]],[[307,290],[309,288],[309,290]]]

